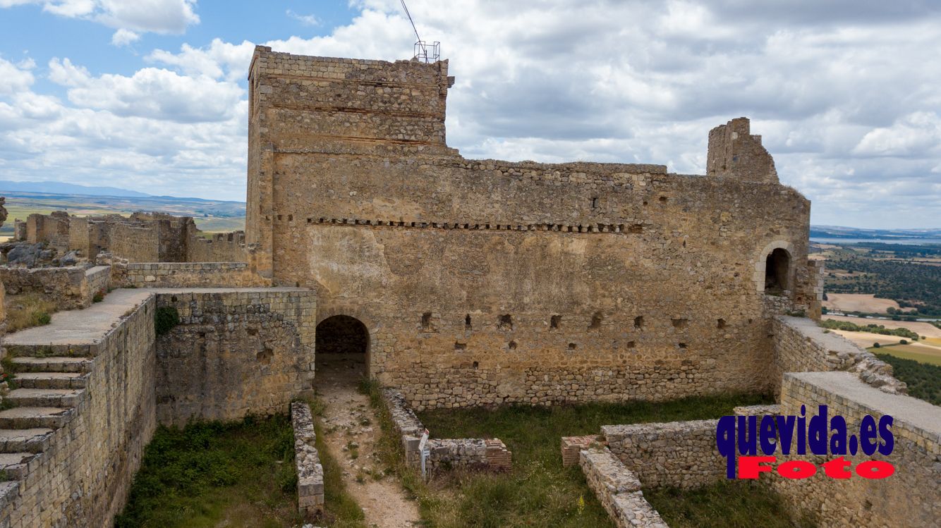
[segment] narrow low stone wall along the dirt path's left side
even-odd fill
[[[304,519],[312,520],[324,511],[324,467],[317,455],[311,406],[292,403],[291,425],[295,434],[297,507]]]

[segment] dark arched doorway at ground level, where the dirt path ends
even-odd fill
[[[314,383],[350,381],[367,375],[369,330],[356,317],[334,315],[317,325]]]

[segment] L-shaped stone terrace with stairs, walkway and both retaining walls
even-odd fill
[[[181,324],[157,338],[169,306]],[[107,526],[158,421],[287,412],[312,387],[315,310],[296,288],[122,289],[8,336],[0,526]]]

